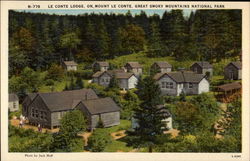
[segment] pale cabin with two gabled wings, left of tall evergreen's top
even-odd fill
[[[96,72],[93,76],[93,83],[97,83],[104,87],[108,87],[110,80],[115,77],[118,80],[118,85],[121,89],[129,90],[135,88],[138,78],[134,73],[127,73],[123,70],[108,70],[104,72]]]

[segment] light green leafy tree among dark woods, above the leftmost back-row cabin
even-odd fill
[[[70,60],[73,59],[72,50],[76,49],[77,45],[79,45],[81,40],[78,38],[75,32],[66,33],[61,36],[60,44],[62,48],[67,48],[69,50],[68,58]]]

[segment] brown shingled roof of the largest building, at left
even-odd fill
[[[80,89],[63,92],[38,93],[50,111],[73,109],[77,103],[86,99],[97,99],[92,89]],[[78,102],[77,102],[78,101]]]

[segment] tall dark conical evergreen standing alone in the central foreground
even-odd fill
[[[134,110],[134,118],[138,122],[135,128],[135,135],[138,136],[141,146],[147,146],[152,152],[153,146],[157,142],[157,137],[166,130],[162,120],[166,119],[163,109],[158,105],[162,104],[159,85],[152,77],[146,77],[140,81],[138,97],[142,101],[140,106]]]

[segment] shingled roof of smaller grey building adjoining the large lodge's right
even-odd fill
[[[87,108],[89,113],[92,115],[120,111],[120,108],[110,97],[84,100],[81,101],[81,103]]]

